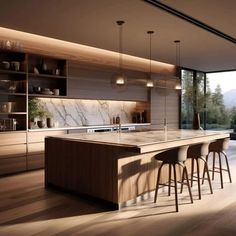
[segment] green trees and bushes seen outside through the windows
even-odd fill
[[[236,106],[226,108],[220,85],[211,91],[209,79],[206,78],[204,94],[204,74],[182,71],[182,128],[192,127],[194,112],[199,112],[201,123],[206,112],[206,129],[232,129],[236,125]]]

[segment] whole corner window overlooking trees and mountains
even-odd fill
[[[236,71],[182,70],[181,77],[181,128],[192,128],[194,113],[204,129],[236,128]]]

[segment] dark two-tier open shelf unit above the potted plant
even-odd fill
[[[28,56],[29,96],[61,97],[67,95],[67,62],[39,55]]]

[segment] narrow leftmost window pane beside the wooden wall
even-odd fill
[[[181,128],[191,129],[193,117],[193,71],[181,70],[181,78]]]

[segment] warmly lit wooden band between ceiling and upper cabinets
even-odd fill
[[[119,53],[86,45],[70,43],[62,40],[29,34],[21,31],[0,27],[0,37],[3,40],[19,41],[22,49],[28,53],[55,56],[67,60],[80,61],[94,65],[116,67],[119,62]],[[126,69],[149,72],[148,59],[123,55],[123,67]],[[173,75],[176,67],[171,64],[152,61],[153,73]]]

